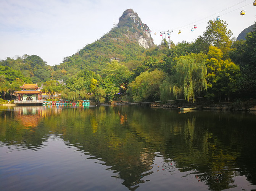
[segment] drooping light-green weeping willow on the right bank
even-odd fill
[[[189,102],[195,102],[195,97],[207,88],[207,70],[203,60],[202,54],[177,58],[174,75],[160,86],[161,99],[184,97]]]

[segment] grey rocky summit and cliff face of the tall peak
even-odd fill
[[[136,41],[144,48],[150,48],[154,45],[151,38],[151,31],[147,24],[144,24],[137,13],[132,9],[124,11],[119,18],[118,28],[125,28],[127,32],[124,34],[130,41]]]

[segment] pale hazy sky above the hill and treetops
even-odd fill
[[[160,32],[167,30],[173,30],[175,44],[192,42],[217,16],[236,38],[256,21],[253,0],[0,0],[0,60],[27,54],[60,64],[108,33],[130,8],[148,25],[157,45]]]

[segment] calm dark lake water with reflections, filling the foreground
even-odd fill
[[[256,190],[256,112],[0,107],[0,190]]]

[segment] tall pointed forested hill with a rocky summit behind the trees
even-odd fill
[[[154,43],[150,28],[142,22],[137,13],[127,9],[119,18],[118,25],[109,33],[76,54],[64,58],[60,65],[55,65],[55,78],[60,78],[60,70],[65,70],[71,76],[83,69],[98,73],[105,68],[106,63],[111,62],[111,58],[129,67],[130,63],[134,65],[140,62],[143,52],[152,46]]]

